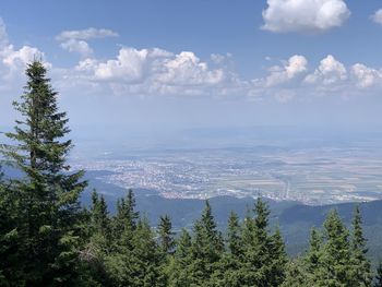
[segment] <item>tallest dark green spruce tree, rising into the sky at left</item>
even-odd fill
[[[14,103],[22,118],[7,133],[15,144],[2,146],[24,174],[12,181],[12,190],[20,196],[20,264],[27,286],[68,285],[76,278],[79,195],[86,186],[83,171],[68,172],[68,119],[46,74],[41,61],[27,65],[24,94]]]

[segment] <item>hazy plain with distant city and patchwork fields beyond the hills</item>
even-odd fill
[[[382,199],[382,151],[368,144],[98,152],[76,156],[72,168],[172,199],[262,195],[311,205]]]

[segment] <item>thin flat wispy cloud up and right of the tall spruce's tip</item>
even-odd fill
[[[83,57],[93,53],[86,40],[100,39],[106,37],[117,37],[118,33],[106,28],[87,28],[79,31],[63,31],[56,37],[61,43],[61,48],[70,52],[77,52]]]

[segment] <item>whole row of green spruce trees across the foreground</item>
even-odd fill
[[[361,214],[351,228],[332,211],[312,229],[306,253],[290,259],[258,199],[243,220],[232,212],[222,234],[208,201],[192,230],[176,235],[164,215],[156,228],[135,211],[131,190],[111,216],[103,195],[89,208],[79,196],[84,171],[70,171],[65,112],[40,61],[26,69],[8,164],[25,175],[0,177],[0,286],[382,286],[373,277]]]

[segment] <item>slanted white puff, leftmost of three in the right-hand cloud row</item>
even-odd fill
[[[270,69],[271,74],[266,77],[266,85],[274,86],[285,83],[307,72],[308,61],[303,56],[291,56],[284,67],[275,65]]]

